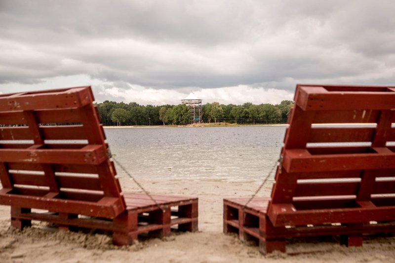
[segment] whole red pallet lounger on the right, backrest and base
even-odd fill
[[[259,240],[395,232],[395,87],[297,85],[271,198],[224,199],[224,232]]]

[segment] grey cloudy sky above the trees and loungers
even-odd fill
[[[0,92],[279,103],[296,83],[395,85],[393,0],[0,0]]]

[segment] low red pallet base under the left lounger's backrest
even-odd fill
[[[127,209],[113,220],[11,207],[11,225],[23,229],[31,226],[32,220],[38,220],[59,225],[59,230],[78,230],[79,227],[107,230],[113,233],[113,242],[119,246],[132,244],[141,234],[163,237],[173,228],[197,231],[197,198],[152,196],[160,209],[144,193],[124,192]]]

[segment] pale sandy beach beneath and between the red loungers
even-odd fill
[[[254,244],[241,243],[236,235],[222,233],[222,199],[250,196],[258,183],[222,181],[139,180],[149,192],[199,198],[199,231],[174,233],[127,247],[112,245],[111,236],[56,231],[33,222],[19,232],[10,225],[8,206],[0,206],[0,261],[8,262],[395,262],[394,237],[367,237],[362,247],[340,246],[336,238],[287,243],[287,252],[311,252],[295,256],[274,253],[263,256]],[[123,190],[140,191],[128,178],[120,178]],[[265,185],[258,196],[270,195]],[[318,242],[319,241],[319,242]]]

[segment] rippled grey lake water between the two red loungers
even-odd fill
[[[115,158],[137,178],[262,182],[285,126],[105,129]],[[117,168],[119,176],[125,175]]]

